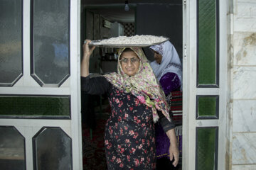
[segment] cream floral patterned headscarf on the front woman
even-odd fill
[[[122,70],[121,63],[119,61],[122,52],[125,47],[119,50],[117,73],[105,74],[107,81],[110,81],[117,89],[124,90],[126,93],[132,93],[139,101],[146,106],[152,108],[153,120],[156,123],[159,120],[157,111],[161,111],[164,116],[171,121],[169,116],[169,106],[166,103],[164,91],[161,90],[159,82],[157,81],[153,70],[150,67],[142,48],[131,47],[131,49],[137,54],[140,59],[139,70],[137,74],[129,77]]]

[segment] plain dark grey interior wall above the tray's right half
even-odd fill
[[[135,21],[137,35],[163,35],[170,38],[182,58],[182,1],[178,4],[137,4]],[[146,57],[154,60],[150,50],[144,50]]]

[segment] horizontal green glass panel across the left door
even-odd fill
[[[0,108],[0,118],[10,115],[21,118],[70,118],[70,97],[0,96]]]

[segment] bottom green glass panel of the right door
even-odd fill
[[[196,170],[217,170],[218,128],[196,128]]]

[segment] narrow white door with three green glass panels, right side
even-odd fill
[[[226,2],[183,1],[183,169],[225,169]]]

